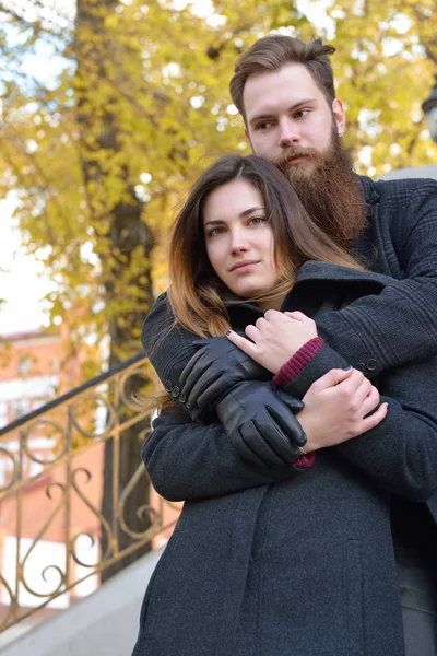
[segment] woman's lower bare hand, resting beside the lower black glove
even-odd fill
[[[305,450],[340,444],[374,429],[386,417],[388,403],[379,405],[379,391],[361,372],[331,370],[312,383],[298,413],[306,435]]]

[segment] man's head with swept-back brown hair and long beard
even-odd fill
[[[309,215],[349,247],[364,229],[365,208],[341,147],[345,115],[328,58],[333,50],[317,40],[267,37],[239,59],[229,89],[253,153],[282,168]]]

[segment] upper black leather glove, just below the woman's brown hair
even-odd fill
[[[202,347],[180,374],[180,400],[194,409],[215,406],[223,394],[241,380],[269,380],[271,372],[235,347],[227,337],[196,340]]]

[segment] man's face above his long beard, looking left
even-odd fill
[[[302,63],[250,75],[243,102],[253,153],[281,162],[282,168],[293,166],[299,174],[311,173],[317,157],[306,157],[306,151],[308,155],[324,154],[331,145],[332,129],[343,133],[341,101],[335,99],[331,107]]]

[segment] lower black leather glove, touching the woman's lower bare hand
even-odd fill
[[[294,415],[302,401],[272,383],[238,383],[216,403],[217,417],[235,450],[256,466],[284,467],[300,457],[307,441]]]

